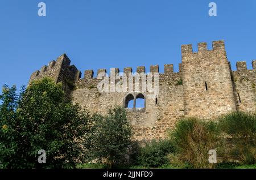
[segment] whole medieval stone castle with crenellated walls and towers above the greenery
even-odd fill
[[[45,76],[53,78],[56,83],[62,82],[65,93],[73,102],[92,113],[105,114],[115,105],[127,108],[137,140],[164,138],[167,130],[181,117],[213,118],[236,110],[256,112],[256,61],[252,62],[253,70],[247,70],[246,62],[242,61],[237,62],[237,70],[232,71],[224,41],[213,41],[212,50],[201,42],[198,52],[193,52],[192,45],[182,45],[181,55],[179,72],[174,72],[172,64],[164,65],[164,73],[158,75],[158,93],[151,98],[148,96],[150,92],[139,89],[100,92],[97,87],[104,77],[99,75],[105,74],[106,70],[99,69],[98,78],[93,76],[93,70],[86,70],[81,78],[81,72],[70,65],[71,61],[65,54],[34,72],[30,82]],[[112,71],[119,73],[118,68]],[[127,76],[131,72],[130,67],[123,69]],[[137,67],[138,74],[143,72],[144,66]],[[150,72],[158,74],[159,66],[150,66]],[[129,79],[134,82],[133,76]],[[117,83],[110,77],[108,80],[110,85]],[[155,82],[154,78],[152,82]],[[136,108],[138,98],[144,99],[144,108]],[[131,100],[133,108],[128,107]]]

